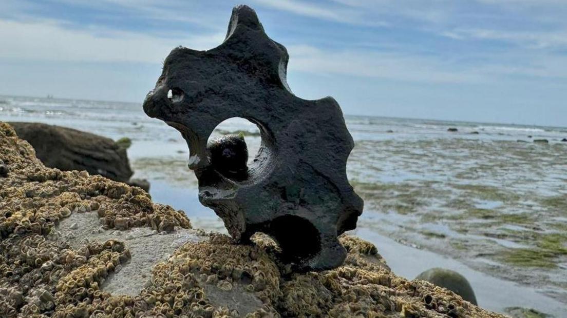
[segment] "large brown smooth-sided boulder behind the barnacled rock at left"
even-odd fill
[[[91,175],[100,174],[120,182],[127,182],[132,176],[125,149],[112,139],[43,123],[10,124],[48,167],[63,171],[86,170]]]

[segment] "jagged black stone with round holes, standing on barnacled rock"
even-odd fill
[[[236,6],[217,48],[171,51],[143,109],[187,140],[199,200],[233,238],[246,243],[263,232],[294,270],[335,268],[346,256],[337,235],[356,227],[363,207],[346,179],[354,142],[332,97],[303,100],[291,93],[288,58],[256,12]],[[234,162],[227,162],[222,146],[207,147],[215,127],[232,117],[255,123],[262,138],[244,178],[232,171],[244,168],[246,148],[235,144],[234,155],[227,153]]]

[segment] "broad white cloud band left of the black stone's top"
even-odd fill
[[[95,35],[88,30],[64,28],[52,20],[0,20],[0,58],[12,61],[159,63],[176,46],[211,49],[223,39],[224,33],[177,40],[112,30],[99,30]]]

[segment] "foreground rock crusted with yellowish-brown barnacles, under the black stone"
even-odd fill
[[[0,161],[0,317],[503,317],[344,235],[344,265],[290,272],[266,235],[193,231],[139,188],[46,168],[5,123]]]

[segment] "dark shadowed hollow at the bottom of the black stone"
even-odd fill
[[[319,231],[302,217],[277,217],[266,233],[276,240],[284,255],[294,255],[294,260],[314,256],[321,248]]]

